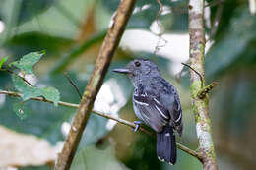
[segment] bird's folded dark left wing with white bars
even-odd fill
[[[133,95],[135,110],[145,123],[150,125],[156,132],[161,132],[162,127],[169,124],[169,112],[158,98],[145,92],[135,92]]]

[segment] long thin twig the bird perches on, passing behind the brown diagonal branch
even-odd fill
[[[5,94],[5,95],[9,95],[9,96],[13,96],[13,97],[22,97],[22,94],[21,93],[17,93],[17,92],[14,92],[14,91],[7,91],[7,90],[1,90],[0,89],[0,94]],[[36,101],[42,101],[42,102],[47,102],[47,103],[51,103],[53,104],[52,101],[50,100],[47,100],[43,97],[32,97],[30,98],[31,100],[36,100]],[[61,105],[61,106],[66,106],[66,107],[72,107],[72,108],[78,108],[79,107],[79,104],[74,104],[74,103],[68,103],[68,102],[64,102],[64,101],[59,101],[58,102],[58,105]],[[134,129],[136,127],[136,125],[133,123],[133,122],[129,122],[127,120],[124,120],[124,119],[121,119],[119,117],[114,117],[114,116],[111,116],[110,114],[106,114],[106,113],[101,113],[101,112],[98,112],[96,110],[92,110],[93,113],[95,113],[96,115],[98,116],[101,116],[101,117],[104,117],[104,118],[107,118],[107,119],[111,119],[111,120],[114,120],[120,124],[123,124],[123,125],[126,125],[126,126],[129,126],[131,127],[132,129]],[[151,132],[151,131],[148,131],[142,127],[139,128],[139,131],[145,133],[145,134],[148,134],[150,136],[156,136],[155,133]],[[191,150],[190,148],[180,144],[180,143],[177,143],[177,147],[186,152],[187,154],[190,154],[194,157],[196,157],[199,161],[202,161],[202,156],[200,153],[198,153],[197,151],[194,151],[194,150]]]

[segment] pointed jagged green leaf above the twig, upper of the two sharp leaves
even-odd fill
[[[16,66],[21,71],[24,71],[26,74],[33,74],[32,66],[37,63],[40,58],[44,55],[44,52],[31,52],[25,56],[23,56],[20,61],[15,61],[10,64]]]

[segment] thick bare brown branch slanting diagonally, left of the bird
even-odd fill
[[[107,72],[115,49],[118,46],[124,28],[131,16],[136,0],[122,0],[114,16],[106,37],[103,41],[99,54],[96,58],[95,69],[87,85],[83,98],[72,123],[68,138],[58,156],[55,170],[68,170],[72,163],[74,154],[82,137],[92,111],[96,94],[102,85],[103,78]]]

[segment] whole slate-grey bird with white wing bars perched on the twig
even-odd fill
[[[113,71],[126,74],[134,85],[134,112],[157,132],[158,158],[175,164],[177,151],[173,130],[179,136],[182,134],[182,110],[176,89],[161,77],[157,65],[150,60],[135,59],[125,68]],[[138,121],[135,123],[139,126]]]

